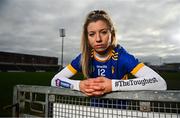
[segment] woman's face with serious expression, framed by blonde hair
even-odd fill
[[[103,20],[91,22],[87,26],[90,46],[99,54],[105,52],[111,44],[111,32]]]

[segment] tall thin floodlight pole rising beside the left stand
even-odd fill
[[[60,37],[62,38],[62,46],[61,46],[61,70],[63,69],[63,47],[64,47],[64,37],[65,37],[65,29],[59,29]]]

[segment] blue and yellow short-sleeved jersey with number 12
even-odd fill
[[[127,79],[128,73],[134,75],[144,65],[120,45],[112,49],[109,58],[105,61],[98,60],[94,53],[92,50],[90,62],[92,67],[91,77],[104,76],[109,79]],[[67,66],[72,73],[81,72],[80,60],[81,54]]]

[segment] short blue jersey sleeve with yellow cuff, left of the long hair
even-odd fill
[[[81,54],[79,54],[75,59],[72,60],[71,64],[69,64],[67,67],[72,73],[81,72]]]

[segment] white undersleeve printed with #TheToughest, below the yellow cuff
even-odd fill
[[[146,65],[135,76],[129,80],[112,80],[112,91],[167,90],[166,81]]]

